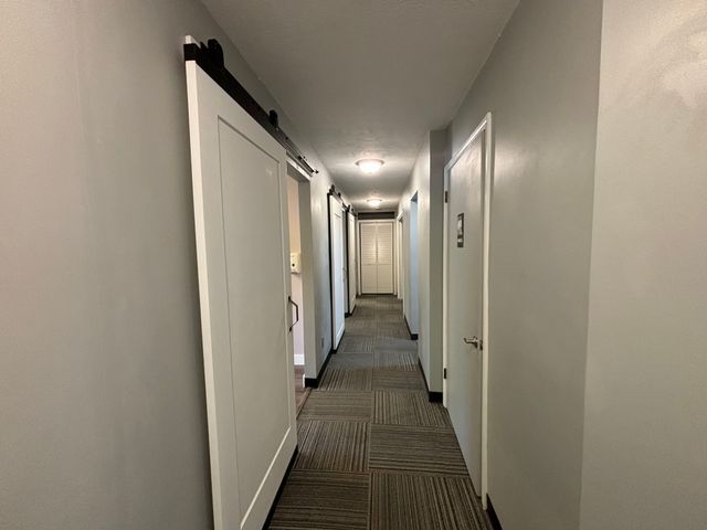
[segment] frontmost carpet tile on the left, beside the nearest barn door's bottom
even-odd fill
[[[368,474],[293,469],[271,530],[368,530]]]

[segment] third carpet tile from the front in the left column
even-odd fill
[[[299,413],[298,421],[370,422],[372,401],[370,392],[313,390]]]

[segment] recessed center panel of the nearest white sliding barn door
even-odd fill
[[[279,261],[285,242],[277,160],[223,121],[219,139],[243,517],[271,464],[268,455],[276,453],[288,428],[287,364],[282,362],[287,349],[286,290]],[[240,176],[246,176],[247,193],[246,179]]]

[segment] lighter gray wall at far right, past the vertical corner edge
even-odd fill
[[[707,4],[606,0],[582,529],[707,528]]]

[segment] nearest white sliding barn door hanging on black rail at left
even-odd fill
[[[194,61],[187,84],[214,528],[260,529],[297,444],[285,150]]]

